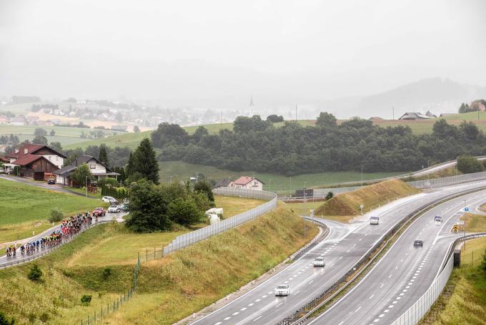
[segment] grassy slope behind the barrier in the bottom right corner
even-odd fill
[[[486,324],[486,272],[480,269],[485,252],[486,238],[467,242],[461,267],[452,271],[444,292],[420,325]]]

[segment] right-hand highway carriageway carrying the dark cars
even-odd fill
[[[309,324],[391,324],[412,306],[439,274],[450,244],[459,234],[450,229],[466,204],[475,208],[486,190],[442,203],[417,219],[380,262],[342,299]],[[436,225],[434,217],[442,216]],[[415,239],[423,247],[413,247]]]

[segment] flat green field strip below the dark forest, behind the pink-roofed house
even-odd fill
[[[222,170],[217,167],[194,165],[187,162],[164,161],[159,163],[161,182],[169,182],[174,179],[185,180],[201,172],[205,177],[213,180],[236,180],[242,175],[254,175],[265,183],[264,190],[277,193],[294,192],[304,187],[322,187],[339,182],[361,181],[360,172],[319,172],[315,174],[303,174],[298,176],[284,176],[265,172],[234,172]],[[375,180],[382,177],[401,175],[402,172],[364,172],[363,180]]]

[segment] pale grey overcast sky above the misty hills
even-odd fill
[[[0,96],[367,95],[486,86],[486,1],[0,0]]]

